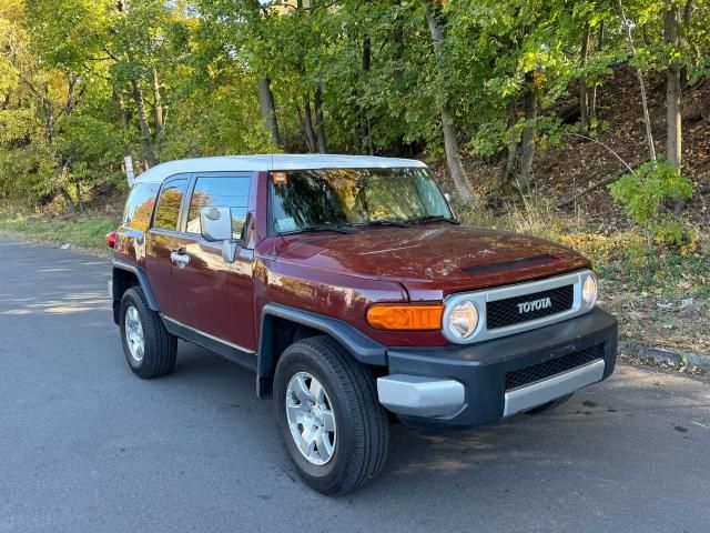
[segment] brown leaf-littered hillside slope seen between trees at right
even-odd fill
[[[574,88],[572,88],[574,89]],[[656,150],[666,149],[666,83],[655,74],[647,79],[649,111],[653,125]],[[600,127],[596,139],[610,147],[632,168],[648,159],[641,100],[637,79],[628,67],[619,67],[605,80],[598,91],[597,112]],[[574,90],[548,114],[561,112],[576,103]],[[686,215],[699,231],[710,228],[710,82],[703,80],[683,92],[683,174],[693,182],[693,199],[688,202]],[[469,180],[485,190],[489,205],[506,209],[519,199],[510,194],[510,185],[501,183],[504,158],[486,161],[467,158]],[[434,164],[437,178],[447,190],[453,184],[446,175],[444,161]],[[623,173],[625,168],[599,143],[568,134],[562,147],[538,147],[532,162],[534,197],[544,199],[561,217],[581,217],[587,222],[602,225],[628,225],[628,219],[615,205],[605,183]],[[602,183],[604,182],[604,183]],[[507,185],[507,189],[506,189]],[[595,187],[596,185],[596,187]],[[592,190],[582,192],[588,188]],[[506,198],[497,191],[506,190]],[[572,201],[574,200],[574,201]]]

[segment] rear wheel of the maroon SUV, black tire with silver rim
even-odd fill
[[[123,293],[119,316],[123,354],[133,373],[143,379],[170,374],[175,368],[178,339],[148,306],[141,288],[133,286]],[[136,321],[139,325],[135,325]],[[136,328],[140,336],[135,335]],[[141,339],[142,351],[139,350]]]

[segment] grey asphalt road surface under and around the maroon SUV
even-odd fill
[[[558,410],[393,428],[383,476],[296,479],[251,372],[182,344],[129,370],[109,263],[0,239],[0,533],[710,531],[710,384],[619,366]]]

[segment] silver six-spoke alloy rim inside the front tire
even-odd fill
[[[337,434],[333,404],[312,374],[298,372],[288,381],[286,419],[296,447],[310,463],[324,465],[333,457]]]

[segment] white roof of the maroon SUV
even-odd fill
[[[140,174],[136,182],[162,182],[183,172],[254,172],[268,170],[311,169],[390,169],[402,167],[426,168],[415,159],[375,158],[368,155],[331,154],[260,154],[224,155],[219,158],[179,159],[158,164]]]

